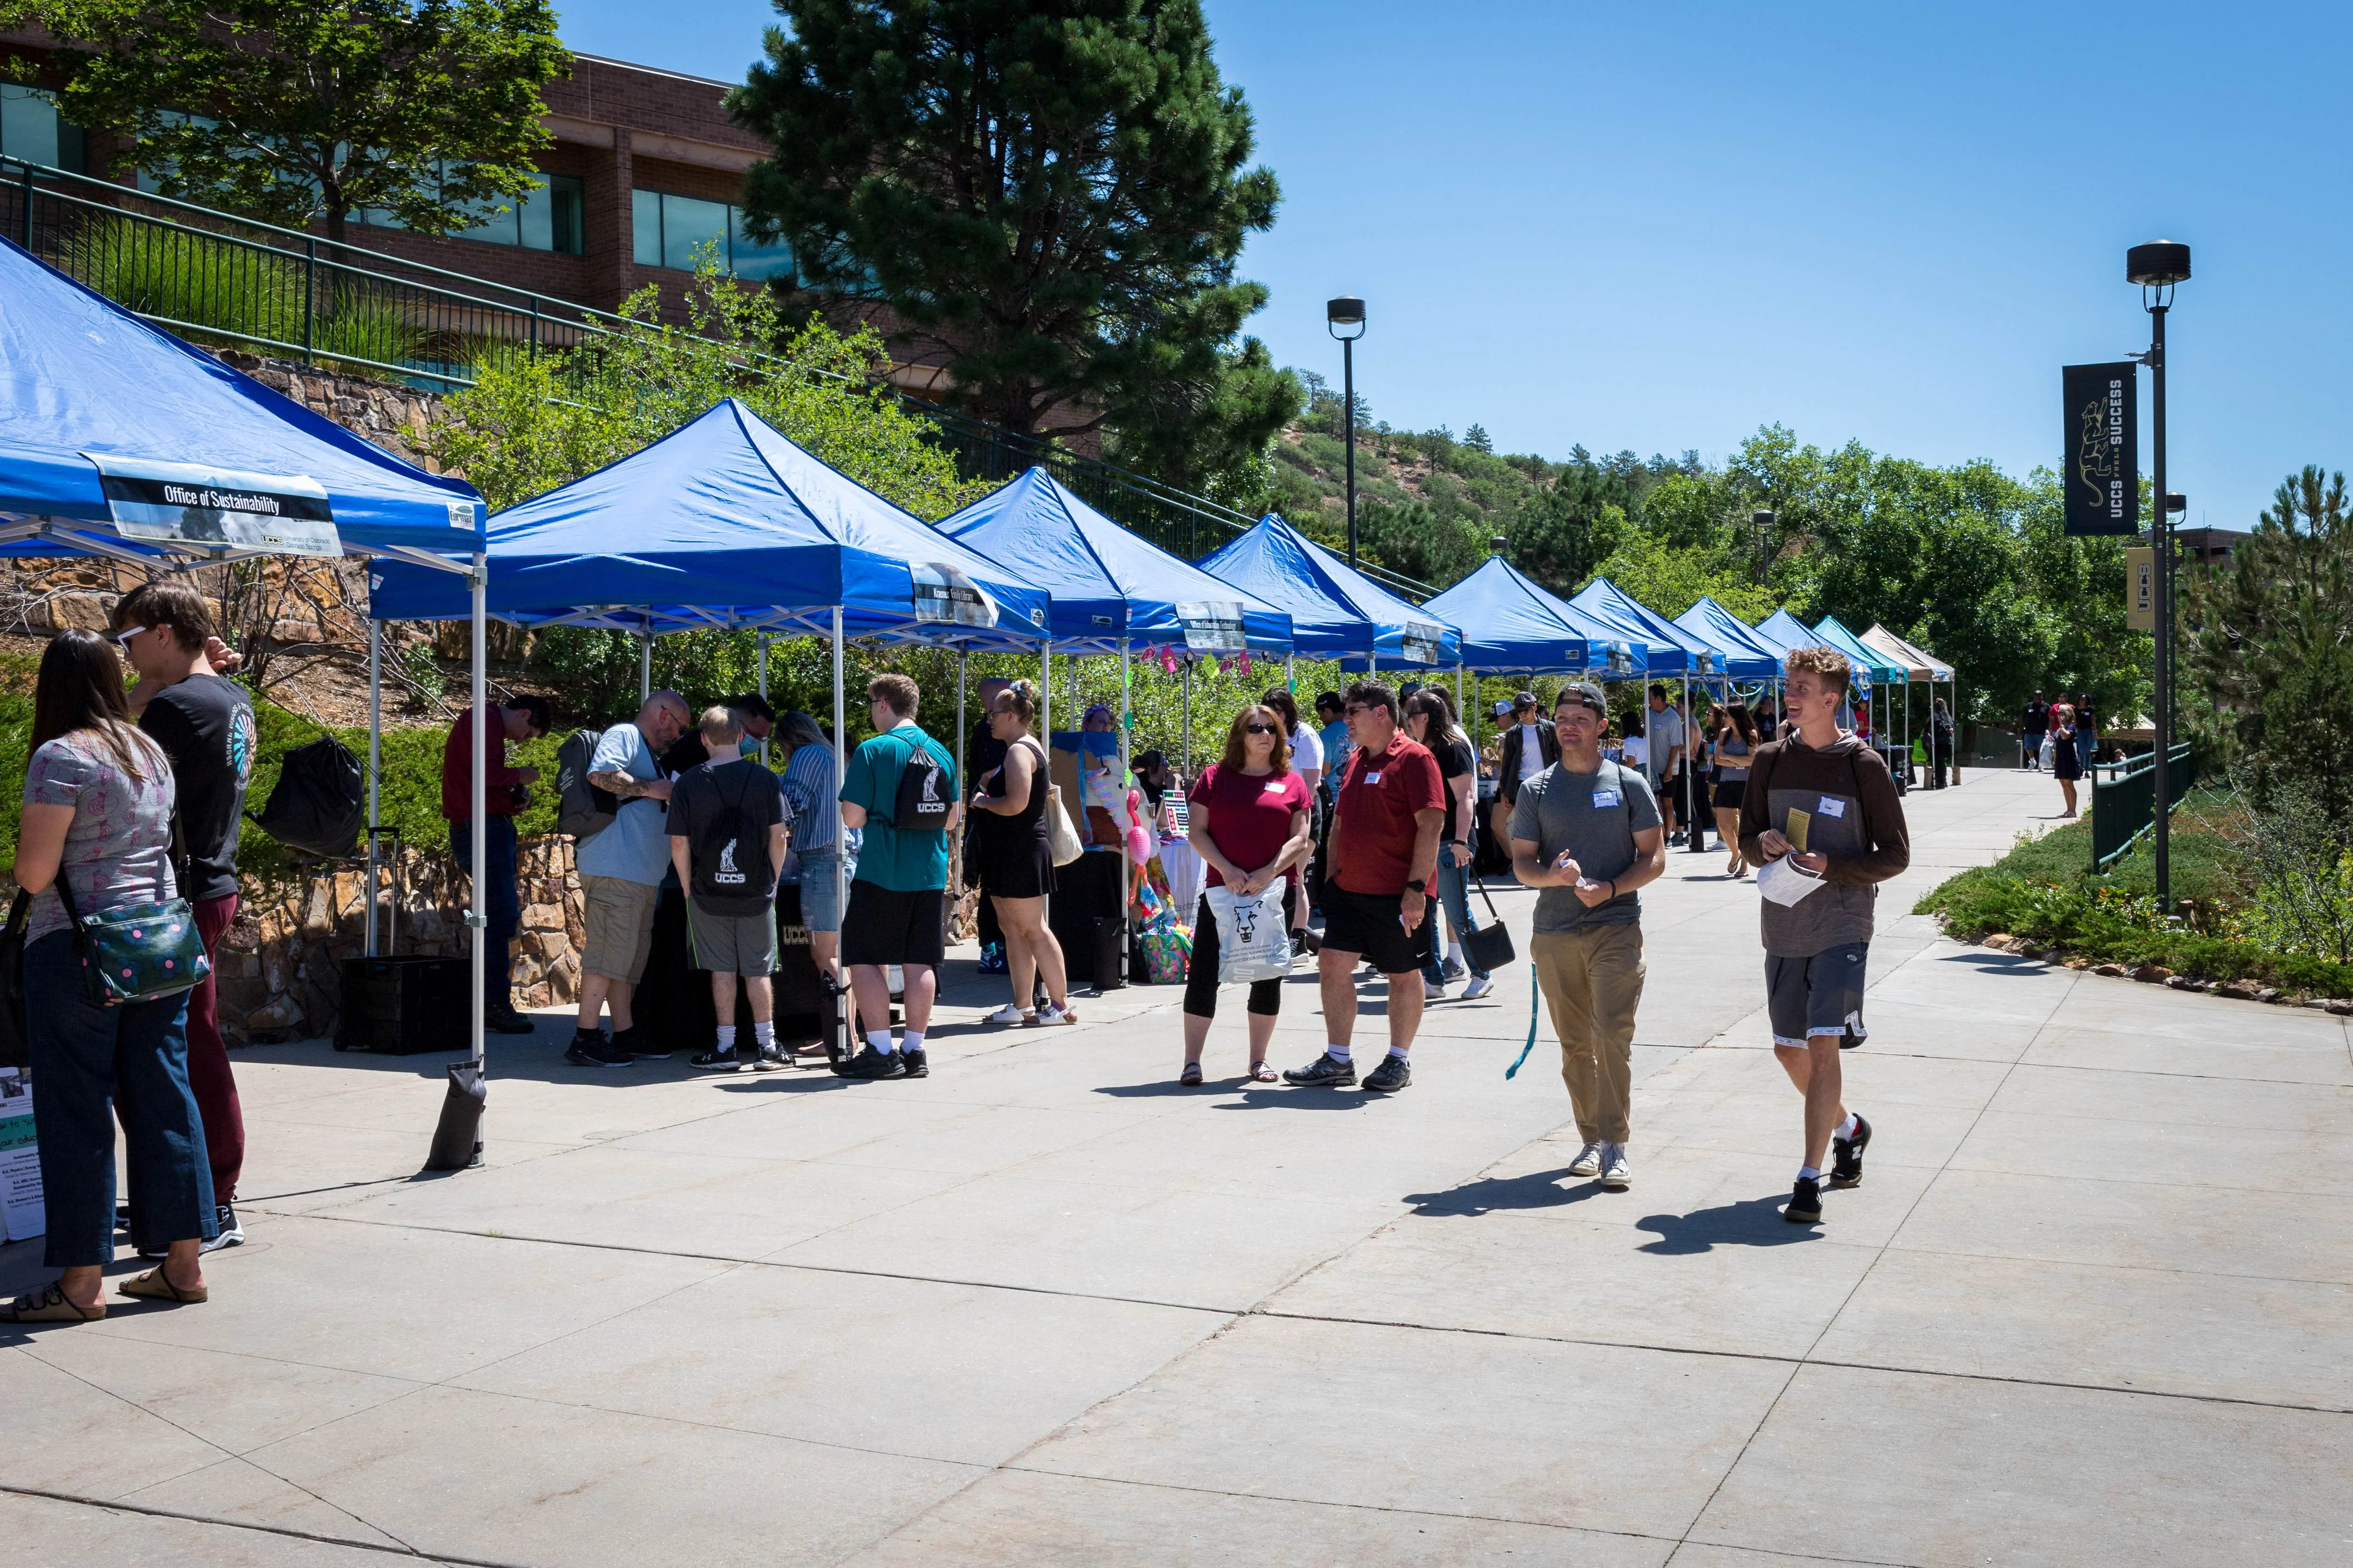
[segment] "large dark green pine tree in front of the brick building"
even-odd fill
[[[1240,324],[1275,219],[1198,0],[776,0],[729,113],[746,228],[889,308],[962,404],[1092,430],[1169,482],[1257,458],[1301,390]],[[1075,416],[1075,418],[1073,418]]]

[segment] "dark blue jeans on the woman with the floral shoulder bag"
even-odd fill
[[[212,1241],[212,1159],[188,1091],[188,992],[99,1006],[71,931],[24,950],[33,1133],[49,1208],[42,1262],[115,1260],[115,1105],[129,1140],[132,1237]]]

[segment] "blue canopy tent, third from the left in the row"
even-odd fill
[[[1195,656],[1289,654],[1292,618],[1160,545],[1129,534],[1045,468],[1028,468],[972,505],[941,517],[948,538],[1014,564],[1052,597],[1040,686],[1052,715],[1052,649],[1120,656],[1120,769],[1129,743],[1129,654],[1136,642],[1186,649],[1186,748]],[[1073,698],[1078,665],[1071,665]],[[1052,731],[1052,719],[1047,719]]]

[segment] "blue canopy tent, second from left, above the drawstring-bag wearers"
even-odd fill
[[[369,588],[374,621],[456,616],[431,571],[386,562]],[[652,447],[492,517],[487,609],[518,625],[638,635],[640,696],[664,632],[758,630],[762,693],[767,639],[821,635],[833,644],[840,776],[845,637],[1028,646],[1045,637],[1049,602],[727,397]]]

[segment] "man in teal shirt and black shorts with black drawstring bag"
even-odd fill
[[[962,820],[955,759],[915,724],[922,693],[904,675],[866,682],[875,736],[849,755],[842,825],[864,827],[859,875],[842,914],[842,964],[856,992],[866,1046],[833,1067],[845,1079],[929,1077],[932,1027],[946,957],[948,835]],[[906,973],[906,1039],[889,1037],[889,973]]]

